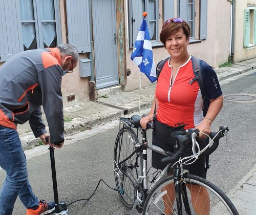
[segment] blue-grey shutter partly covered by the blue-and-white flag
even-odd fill
[[[140,30],[142,15],[142,1],[141,0],[130,0],[129,1],[129,38],[130,38],[130,48],[133,47],[137,35]],[[134,20],[134,21],[132,21]]]

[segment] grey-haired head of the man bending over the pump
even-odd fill
[[[61,67],[63,71],[73,71],[77,66],[79,54],[76,49],[71,44],[61,44],[57,46],[61,56]]]

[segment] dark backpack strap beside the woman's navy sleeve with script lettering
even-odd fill
[[[200,59],[198,59],[197,57],[191,56],[191,60],[192,60],[192,67],[193,67],[193,72],[195,74],[195,78],[191,79],[189,83],[192,84],[194,81],[197,80],[200,87],[201,94],[202,94],[202,98],[205,99],[206,94],[204,90],[204,81],[202,76],[202,69],[200,66]]]

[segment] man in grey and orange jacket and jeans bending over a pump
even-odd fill
[[[42,105],[51,135],[49,145],[62,147],[61,78],[77,66],[78,58],[74,46],[62,44],[16,54],[0,67],[0,165],[7,173],[0,190],[0,215],[12,214],[17,196],[27,208],[27,215],[54,211],[54,202],[38,201],[32,191],[16,126],[29,120],[35,137],[48,144],[49,134],[41,120]]]

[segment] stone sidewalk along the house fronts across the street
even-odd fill
[[[233,64],[231,67],[216,68],[219,81],[256,69],[256,58]],[[141,110],[151,107],[154,99],[155,84],[141,89]],[[108,95],[107,98],[99,98],[98,102],[87,101],[72,107],[66,107],[65,136],[77,134],[91,129],[102,123],[117,119],[123,115],[139,110],[139,90]],[[45,115],[42,119],[47,125]],[[48,127],[47,127],[48,129]],[[41,144],[35,139],[29,123],[18,125],[17,131],[25,150]]]

